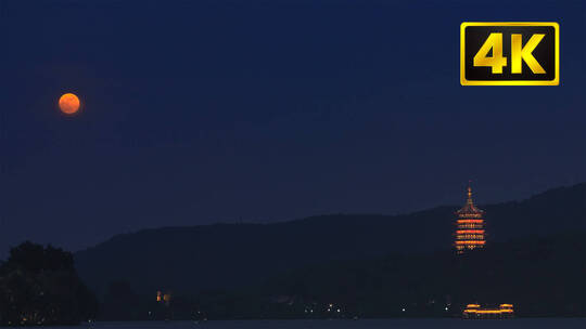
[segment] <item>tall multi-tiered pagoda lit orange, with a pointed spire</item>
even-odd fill
[[[484,231],[484,211],[480,210],[472,201],[472,188],[468,185],[468,200],[464,207],[456,211],[456,252],[463,253],[467,250],[484,248],[486,244]]]

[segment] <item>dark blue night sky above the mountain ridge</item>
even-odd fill
[[[474,2],[2,1],[0,254],[585,181],[585,1]],[[464,21],[560,23],[561,85],[461,87]]]

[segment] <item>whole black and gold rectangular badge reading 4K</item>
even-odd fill
[[[475,23],[460,26],[462,85],[558,85],[558,23]]]

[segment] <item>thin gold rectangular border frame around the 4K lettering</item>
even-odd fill
[[[553,80],[467,80],[464,31],[469,26],[551,26],[556,31],[556,77]],[[556,22],[463,22],[460,25],[460,83],[462,85],[559,85],[560,25]]]

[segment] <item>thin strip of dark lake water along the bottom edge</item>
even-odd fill
[[[51,327],[72,329],[76,327]],[[360,320],[243,320],[243,321],[192,321],[169,323],[95,323],[77,328],[110,329],[422,329],[422,328],[586,328],[586,318],[514,318],[506,320],[461,320],[461,319],[360,319]]]

